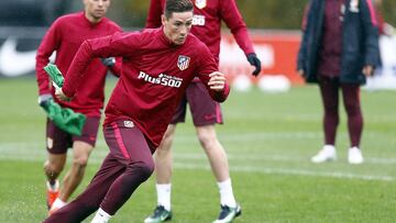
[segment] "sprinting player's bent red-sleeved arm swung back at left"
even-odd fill
[[[139,44],[139,33],[116,33],[113,35],[85,41],[78,48],[67,71],[62,92],[70,99],[76,93],[80,79],[85,76],[94,58],[124,57]]]

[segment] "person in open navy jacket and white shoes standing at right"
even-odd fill
[[[311,0],[302,25],[297,69],[319,85],[324,116],[324,146],[312,163],[334,160],[339,89],[348,114],[350,164],[362,164],[363,116],[360,86],[380,62],[378,31],[372,0]]]

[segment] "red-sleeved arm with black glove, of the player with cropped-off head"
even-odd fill
[[[238,10],[235,0],[220,1],[221,19],[226,22],[234,36],[238,45],[246,55],[248,62],[254,66],[252,75],[257,76],[261,71],[261,60],[254,52],[252,41],[249,36],[246,24]]]

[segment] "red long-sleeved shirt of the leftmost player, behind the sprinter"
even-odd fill
[[[50,56],[56,52],[55,64],[64,76],[72,64],[72,60],[85,40],[111,35],[121,31],[120,26],[107,18],[92,24],[85,16],[84,12],[67,14],[57,19],[45,34],[36,55],[36,78],[38,93],[52,93],[50,77],[44,67],[50,62]],[[94,59],[85,71],[81,88],[70,102],[55,100],[65,108],[88,116],[99,116],[105,101],[105,81],[107,67],[100,59]],[[114,70],[119,73],[119,70]]]

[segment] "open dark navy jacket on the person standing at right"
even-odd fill
[[[321,44],[324,1],[311,0],[302,41],[298,53],[297,68],[302,69],[307,82],[317,82],[318,58]],[[351,2],[358,1],[358,8]],[[373,16],[373,18],[372,18]],[[340,81],[364,83],[362,70],[365,65],[380,63],[378,31],[374,24],[372,0],[346,0],[342,24],[342,53]]]

